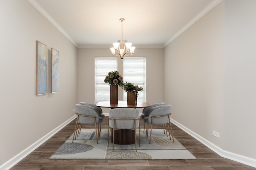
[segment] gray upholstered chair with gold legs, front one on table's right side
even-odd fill
[[[170,121],[170,115],[172,114],[171,107],[172,107],[171,105],[161,105],[161,106],[153,107],[153,108],[149,109],[150,113],[148,114],[148,116],[144,117],[143,121],[144,121],[144,123],[147,124],[147,130],[146,130],[147,139],[148,139],[149,125],[151,125],[149,143],[151,142],[153,125],[168,125],[170,140],[173,140],[173,143],[174,143],[173,134],[172,134],[172,139],[171,139],[171,135],[170,135],[170,129],[171,129],[171,133],[172,133],[172,125],[171,125],[171,121]],[[170,126],[170,128],[169,128],[169,126]],[[166,135],[168,136],[167,129],[166,129]]]

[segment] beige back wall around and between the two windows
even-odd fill
[[[94,102],[94,57],[111,57],[110,49],[78,49],[78,102]],[[134,57],[146,57],[146,101],[163,102],[163,49],[136,48]],[[122,75],[121,59],[118,59],[118,71]],[[118,98],[122,100],[121,88]],[[103,112],[108,113],[109,109]]]

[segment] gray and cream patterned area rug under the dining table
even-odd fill
[[[137,152],[135,144],[114,145],[112,152],[111,139],[108,147],[107,129],[102,129],[98,144],[95,129],[82,129],[72,143],[73,135],[50,157],[50,159],[196,159],[179,141],[174,142],[164,134],[163,129],[153,129],[151,144],[141,129],[140,146],[137,132]],[[149,131],[150,133],[150,131]],[[109,133],[111,136],[111,132]]]

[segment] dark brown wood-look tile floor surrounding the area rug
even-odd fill
[[[107,120],[105,117],[102,128],[107,128]],[[142,121],[142,128],[143,125]],[[219,156],[175,125],[172,125],[174,137],[196,160],[50,160],[50,156],[72,135],[74,126],[75,120],[11,170],[256,170]],[[94,125],[84,125],[83,128],[94,128]]]

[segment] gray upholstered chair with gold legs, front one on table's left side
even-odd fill
[[[98,138],[100,138],[100,129],[99,125],[103,122],[103,118],[99,116],[98,112],[90,106],[76,104],[76,126],[74,130],[74,136],[72,143],[74,142],[74,138],[79,131],[81,130],[82,124],[94,124],[95,125],[95,133],[96,133],[96,141],[98,143]],[[97,133],[98,131],[98,133]],[[76,138],[75,138],[76,140]]]

